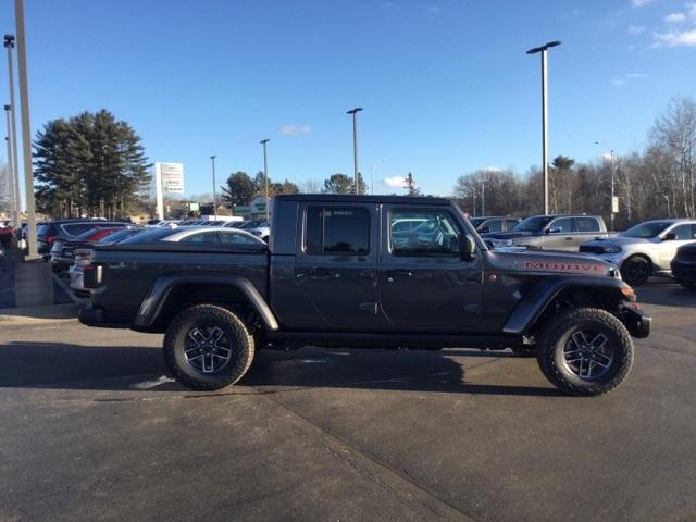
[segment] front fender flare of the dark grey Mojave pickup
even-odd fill
[[[505,334],[524,335],[536,320],[544,313],[554,299],[568,288],[612,290],[618,300],[635,300],[621,291],[627,287],[623,281],[614,277],[544,277],[533,285],[508,316],[502,332]]]

